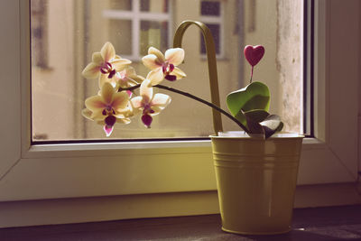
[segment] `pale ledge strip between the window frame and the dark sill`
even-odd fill
[[[356,183],[298,186],[295,208],[361,204]],[[216,190],[0,202],[0,227],[218,214]]]

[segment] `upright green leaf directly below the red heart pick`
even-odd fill
[[[270,107],[270,90],[264,83],[253,82],[227,96],[229,112],[243,125],[246,125],[245,112],[251,110],[268,111]]]

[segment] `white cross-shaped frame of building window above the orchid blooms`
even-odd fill
[[[132,0],[131,10],[115,10],[115,9],[106,9],[103,11],[103,17],[107,19],[116,19],[116,20],[127,20],[132,23],[132,40],[136,44],[132,44],[132,54],[123,55],[122,57],[128,60],[141,60],[142,55],[140,53],[140,32],[141,32],[141,22],[142,21],[156,21],[168,22],[168,42],[171,44],[171,1],[168,5],[168,13],[149,13],[141,11],[140,0]]]

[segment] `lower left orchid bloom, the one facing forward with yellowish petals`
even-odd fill
[[[110,83],[106,82],[99,95],[86,99],[87,108],[83,109],[82,115],[97,121],[99,125],[104,125],[106,136],[109,136],[116,123],[130,123],[132,109],[128,103],[129,96],[125,92],[117,92]]]

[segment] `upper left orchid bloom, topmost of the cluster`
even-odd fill
[[[105,75],[112,79],[117,71],[123,70],[131,60],[122,59],[116,55],[116,50],[110,42],[106,42],[100,52],[94,52],[92,61],[83,70],[82,75],[86,79],[97,79]]]

